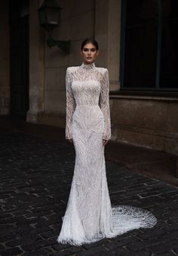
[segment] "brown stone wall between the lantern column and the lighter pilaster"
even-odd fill
[[[86,37],[94,36],[94,1],[59,1],[62,8],[60,26],[52,32],[57,40],[70,40],[71,53],[60,48],[45,48],[44,123],[65,125],[66,85],[68,66],[81,64],[80,45]],[[46,39],[48,33],[46,34]]]

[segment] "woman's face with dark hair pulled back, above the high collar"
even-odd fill
[[[81,50],[81,55],[84,59],[84,64],[91,64],[96,59],[99,52],[97,51],[96,46],[91,43],[84,45],[84,48]]]

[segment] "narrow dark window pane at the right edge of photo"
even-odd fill
[[[164,0],[166,9],[162,26],[160,87],[178,88],[178,1]]]

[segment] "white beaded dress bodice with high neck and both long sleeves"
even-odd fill
[[[98,106],[103,112],[105,133],[109,139],[109,74],[105,68],[94,63],[71,66],[66,71],[66,138],[72,138],[72,116],[75,106]]]

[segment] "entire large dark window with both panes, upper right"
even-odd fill
[[[122,0],[122,89],[178,90],[177,29],[177,0]]]

